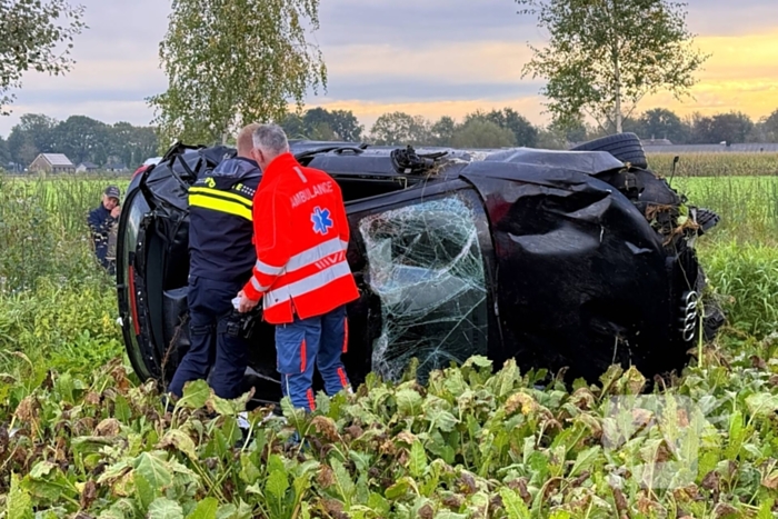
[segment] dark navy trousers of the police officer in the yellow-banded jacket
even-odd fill
[[[189,279],[189,332],[191,348],[181,359],[170,392],[181,397],[183,385],[208,380],[213,392],[226,399],[238,398],[248,366],[246,339],[227,335],[232,298],[243,287],[239,281],[215,281],[191,276]]]

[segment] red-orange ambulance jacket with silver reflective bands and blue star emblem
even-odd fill
[[[291,153],[267,167],[253,204],[257,265],[246,296],[281,325],[321,316],[359,298],[346,261],[349,223],[340,187]]]

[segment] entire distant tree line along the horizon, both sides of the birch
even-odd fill
[[[575,142],[602,137],[597,124],[582,121],[562,128],[535,126],[512,108],[475,111],[461,121],[443,116],[429,120],[401,111],[380,116],[366,130],[351,110],[311,108],[289,113],[279,121],[290,139],[346,140],[391,146],[450,146],[456,148],[563,149]],[[778,110],[754,121],[741,112],[680,117],[656,108],[624,120],[624,131],[641,139],[667,139],[674,144],[778,142]],[[200,142],[192,142],[200,143]],[[107,124],[84,116],[57,121],[40,113],[26,113],[8,139],[0,137],[0,164],[27,167],[38,153],[64,153],[74,163],[104,166],[123,162],[128,168],[160,153],[158,129],[129,122]]]

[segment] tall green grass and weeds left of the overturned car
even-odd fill
[[[114,287],[86,223],[104,184],[0,178],[0,372],[18,383],[40,383],[40,367],[84,372],[121,352]]]

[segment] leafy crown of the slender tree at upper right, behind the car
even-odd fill
[[[542,93],[555,120],[587,113],[606,130],[649,93],[680,99],[705,62],[691,47],[684,4],[672,0],[516,0],[549,32],[548,46],[530,46],[523,76],[547,80]]]

